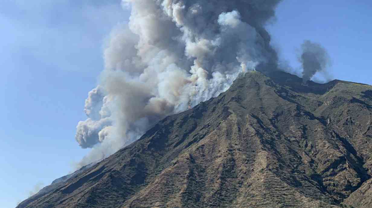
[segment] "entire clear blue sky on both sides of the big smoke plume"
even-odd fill
[[[333,78],[372,84],[371,11],[369,0],[284,0],[268,29],[293,68],[309,39],[328,50]],[[0,208],[68,174],[89,151],[74,140],[76,125],[105,38],[128,17],[120,0],[1,1]]]

